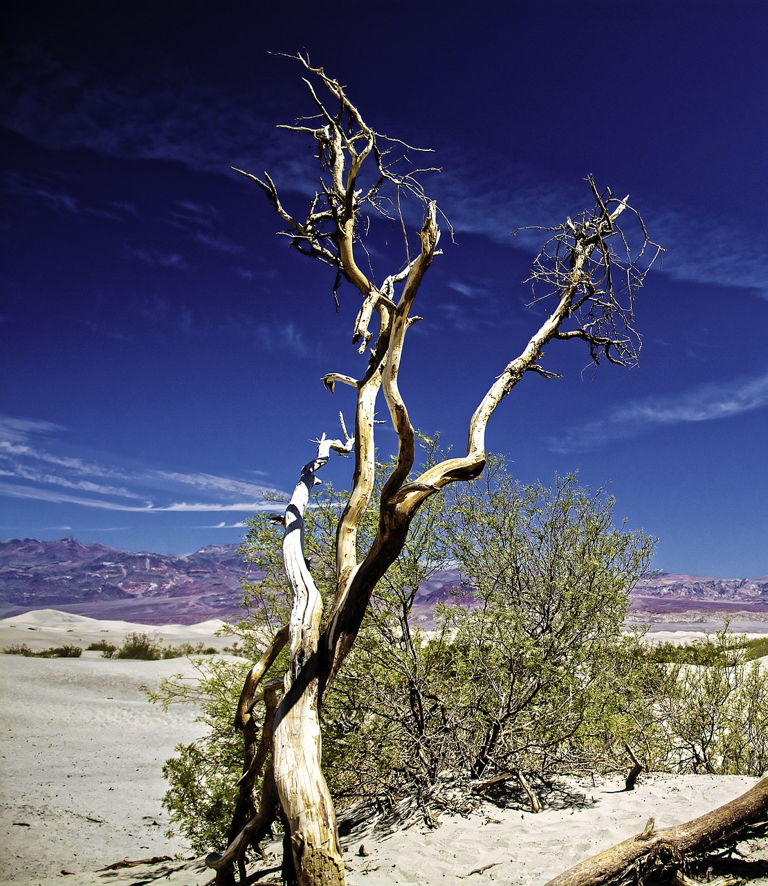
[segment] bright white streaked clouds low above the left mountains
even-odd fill
[[[132,513],[269,509],[276,490],[249,479],[84,460],[56,451],[57,424],[0,416],[0,494]]]

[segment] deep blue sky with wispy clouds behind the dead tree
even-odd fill
[[[352,416],[357,299],[275,237],[268,170],[303,206],[302,47],[369,124],[435,149],[454,227],[419,294],[401,387],[461,448],[539,315],[537,232],[629,192],[663,268],[640,366],[526,377],[488,444],[522,481],[579,470],[659,537],[657,568],[768,572],[768,7],[682,0],[385,6],[15,4],[3,51],[0,537],[189,553],[237,541]],[[374,230],[375,237],[386,231]],[[372,244],[379,278],[394,237]],[[382,408],[384,412],[384,408]],[[382,426],[388,455],[392,431]],[[329,477],[348,479],[336,460]]]

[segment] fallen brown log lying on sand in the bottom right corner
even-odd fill
[[[687,859],[768,832],[768,778],[698,819],[617,843],[558,874],[546,886],[621,886],[650,874],[675,874]]]

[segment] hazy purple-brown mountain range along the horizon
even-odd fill
[[[150,625],[229,618],[240,609],[240,579],[261,573],[237,545],[208,545],[189,556],[132,553],[75,538],[0,541],[0,618],[58,609],[91,618]],[[431,621],[451,599],[457,571],[439,571],[419,588],[414,614]],[[711,579],[660,572],[632,591],[630,618],[651,623],[768,622],[768,576]]]

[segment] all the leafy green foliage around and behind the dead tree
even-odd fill
[[[425,462],[441,455],[437,440],[422,443]],[[381,483],[387,466],[378,470]],[[306,557],[327,602],[344,501],[326,486],[306,510]],[[762,647],[724,632],[680,651],[627,633],[629,591],[654,540],[615,526],[613,508],[575,475],[520,486],[495,458],[474,484],[425,502],[324,699],[322,765],[337,802],[373,798],[429,820],[430,808],[469,808],[496,779],[518,779],[532,794],[558,773],[617,772],[635,758],[648,770],[768,767],[768,680],[746,662]],[[371,509],[361,549],[375,525]],[[229,649],[248,661],[289,614],[281,537],[266,515],[249,521],[244,553],[264,578],[244,582],[248,616],[225,627]],[[465,580],[423,630],[412,618],[416,590],[446,567]],[[283,653],[266,679],[286,665]],[[166,680],[155,700],[198,702],[208,727],[168,760],[164,801],[193,848],[207,851],[227,843],[243,759],[232,721],[247,664],[198,668],[199,681]]]

